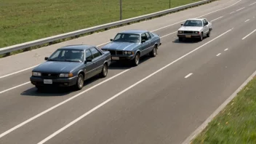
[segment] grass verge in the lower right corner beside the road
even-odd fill
[[[221,111],[193,144],[256,143],[256,79]]]

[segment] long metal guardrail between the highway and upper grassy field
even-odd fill
[[[72,32],[69,32],[69,33],[59,34],[57,36],[50,36],[50,37],[47,37],[47,38],[44,38],[44,39],[38,39],[38,40],[35,40],[35,41],[28,41],[28,42],[25,42],[25,43],[22,43],[22,44],[15,44],[15,45],[12,45],[12,46],[9,46],[9,47],[3,47],[3,48],[0,49],[0,55],[7,54],[9,52],[13,52],[13,51],[20,50],[20,49],[26,49],[26,48],[29,48],[29,47],[38,46],[38,45],[41,45],[41,44],[47,44],[49,42],[57,41],[57,40],[60,40],[60,39],[70,38],[72,36],[79,36],[79,35],[84,34],[84,33],[92,33],[94,31],[99,31],[99,30],[103,30],[103,29],[106,29],[106,28],[111,28],[111,27],[118,26],[118,25],[124,25],[124,24],[127,24],[127,23],[136,22],[136,21],[139,21],[139,20],[145,20],[145,19],[148,19],[148,18],[151,18],[151,17],[157,17],[157,16],[160,16],[160,15],[168,14],[170,12],[176,12],[176,11],[179,11],[179,10],[187,9],[189,7],[196,7],[196,6],[199,6],[201,4],[206,4],[210,1],[214,1],[214,0],[202,0],[202,1],[192,3],[192,4],[186,4],[186,5],[183,5],[183,6],[180,6],[180,7],[175,7],[175,8],[172,8],[172,9],[166,9],[166,10],[163,10],[163,11],[160,11],[160,12],[154,12],[154,13],[151,13],[151,14],[148,14],[148,15],[141,15],[139,17],[132,17],[132,18],[129,18],[129,19],[126,19],[126,20],[119,20],[119,21],[116,21],[116,22],[113,22],[113,23],[106,23],[106,24],[97,25],[97,26],[94,26],[94,27],[91,27],[91,28],[81,29],[79,31],[72,31]]]

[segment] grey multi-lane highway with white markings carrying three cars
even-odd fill
[[[179,42],[177,29],[192,17],[212,21],[211,36]],[[0,143],[183,143],[256,71],[255,17],[255,0],[221,0],[2,58]],[[159,34],[158,55],[132,68],[113,63],[76,92],[30,84],[30,67],[58,47],[102,47],[127,29]]]

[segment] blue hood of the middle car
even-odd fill
[[[110,44],[106,44],[102,49],[106,50],[132,50],[135,47],[139,46],[139,43],[132,43],[132,42],[120,42],[120,41],[113,41]]]

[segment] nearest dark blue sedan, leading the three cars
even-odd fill
[[[38,89],[45,86],[81,89],[84,80],[97,74],[105,77],[111,64],[110,52],[89,45],[71,45],[57,49],[45,63],[32,71],[31,83]]]

